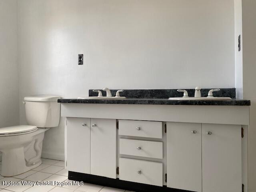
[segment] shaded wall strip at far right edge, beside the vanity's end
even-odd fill
[[[248,126],[248,192],[256,191],[256,1],[242,0],[243,92],[251,100]]]

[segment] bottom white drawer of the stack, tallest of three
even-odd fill
[[[163,164],[158,162],[119,158],[119,179],[163,186]]]

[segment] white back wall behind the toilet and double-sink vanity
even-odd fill
[[[234,0],[22,0],[18,8],[20,101],[105,86],[235,86]],[[43,151],[64,154],[63,120]]]

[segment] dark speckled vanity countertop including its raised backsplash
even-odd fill
[[[194,96],[194,89],[186,89],[188,96]],[[210,89],[201,89],[202,97],[208,95]],[[102,95],[106,96],[106,92]],[[117,90],[111,90],[112,95]],[[97,96],[98,93],[89,90],[89,96]],[[236,99],[235,88],[221,88],[219,92],[213,92],[215,97],[230,97],[232,100],[168,100],[169,97],[182,97],[183,93],[177,92],[177,89],[134,89],[123,90],[120,96],[125,96],[124,100],[88,100],[88,99],[58,99],[59,103],[94,103],[94,104],[142,104],[142,105],[236,105],[249,106],[250,100]]]

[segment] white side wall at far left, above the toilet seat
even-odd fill
[[[19,124],[17,1],[0,0],[0,127]]]

